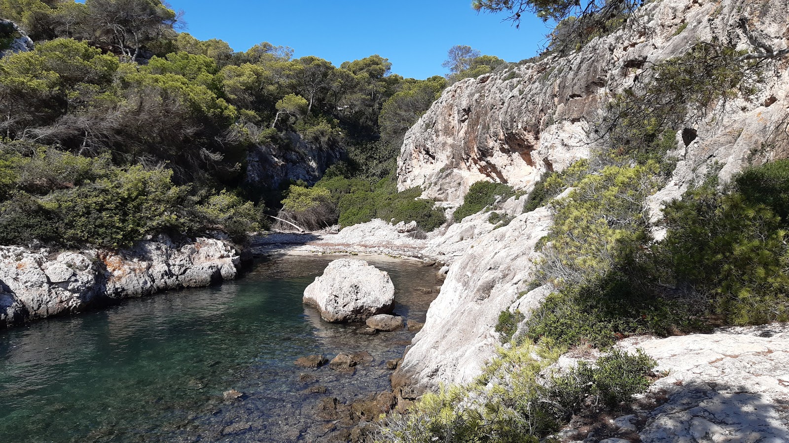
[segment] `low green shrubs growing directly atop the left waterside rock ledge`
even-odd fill
[[[157,233],[223,230],[243,240],[260,229],[262,207],[176,186],[170,169],[10,143],[0,149],[0,175],[0,244],[122,248]]]

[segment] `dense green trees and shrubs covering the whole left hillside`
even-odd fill
[[[250,187],[249,149],[346,152],[335,176],[374,184],[446,85],[391,74],[379,55],[335,67],[270,43],[235,52],[177,32],[178,14],[159,0],[4,0],[0,17],[36,40],[0,60],[3,244],[120,247],[210,229],[240,238],[264,225],[264,203],[297,218],[313,199],[320,220],[297,221],[333,224],[336,192]],[[384,188],[391,207],[367,191],[376,216],[419,212],[435,227],[432,204]]]

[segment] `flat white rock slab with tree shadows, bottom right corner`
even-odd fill
[[[649,389],[667,396],[638,433],[644,443],[789,441],[789,325],[685,337],[631,338],[666,370]],[[630,420],[634,421],[634,420]]]

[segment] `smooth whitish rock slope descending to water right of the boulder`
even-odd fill
[[[534,247],[550,225],[548,209],[540,208],[470,240],[394,373],[394,388],[417,385],[405,388],[413,396],[439,382],[468,382],[480,373],[499,343],[494,331],[499,314],[527,289],[539,258]]]

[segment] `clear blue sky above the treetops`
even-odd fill
[[[335,66],[380,54],[392,72],[419,79],[445,73],[447,50],[469,45],[520,61],[537,54],[548,29],[535,17],[521,28],[503,15],[477,14],[471,0],[169,0],[185,12],[186,32],[222,39],[234,50],[260,42],[316,55]]]

